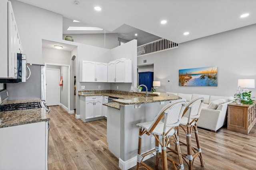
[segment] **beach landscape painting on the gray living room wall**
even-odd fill
[[[217,66],[179,70],[179,86],[217,86]]]

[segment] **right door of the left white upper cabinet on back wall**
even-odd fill
[[[96,82],[108,82],[107,63],[96,63]]]

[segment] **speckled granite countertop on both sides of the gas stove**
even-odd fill
[[[27,102],[40,102],[40,100],[7,100],[7,104],[12,103],[27,103]],[[37,123],[42,121],[49,121],[48,115],[44,107],[38,109],[25,109],[15,111],[2,111],[0,112],[0,119],[2,123],[0,128],[11,127],[17,125],[25,125],[29,123]]]

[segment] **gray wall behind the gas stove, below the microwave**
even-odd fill
[[[31,76],[26,82],[6,84],[8,100],[41,99],[41,67],[30,65]]]

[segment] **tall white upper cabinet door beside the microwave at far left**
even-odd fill
[[[12,10],[12,4],[8,2],[8,78],[15,78],[17,73],[16,55],[16,22]]]

